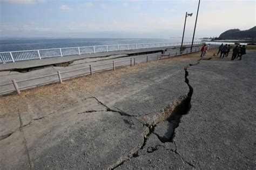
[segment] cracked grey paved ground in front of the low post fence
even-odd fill
[[[199,64],[193,58],[164,59],[121,69],[122,74],[66,81],[69,89],[50,85],[39,87],[41,93],[2,97],[10,106],[28,101],[1,107],[0,165],[253,169],[255,55]],[[43,102],[44,93],[49,98]]]

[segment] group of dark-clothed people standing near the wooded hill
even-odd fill
[[[217,56],[219,55],[220,53],[220,58],[224,58],[224,57],[227,57],[228,56],[228,53],[230,52],[230,45],[226,44],[226,45],[223,45],[221,44],[219,46],[219,51],[217,53]],[[237,45],[234,47],[233,49],[233,53],[232,53],[232,58],[231,60],[234,60],[235,58],[238,58],[240,57],[238,60],[241,60],[242,59],[242,55],[245,55],[246,54],[246,47],[245,45]]]

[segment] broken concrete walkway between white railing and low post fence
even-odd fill
[[[195,46],[193,50],[199,50],[199,48],[200,46]],[[186,53],[188,50],[190,50],[190,48],[187,48],[184,53]],[[26,87],[30,88],[38,84],[44,84],[45,82],[49,83],[52,81],[59,81],[57,71],[60,71],[60,73],[62,73],[61,77],[66,79],[80,74],[90,74],[90,65],[92,66],[92,72],[103,69],[111,70],[113,61],[116,62],[116,67],[122,65],[127,66],[131,65],[131,58],[132,65],[134,65],[134,59],[136,63],[142,63],[146,62],[147,57],[148,60],[157,60],[157,56],[159,59],[161,59],[160,55],[162,53],[166,53],[167,55],[171,54],[171,56],[174,56],[176,55],[176,52],[178,53],[179,49],[174,46],[164,48],[158,47],[147,49],[147,51],[146,49],[119,52],[115,51],[109,53],[93,53],[91,55],[56,57],[42,60],[26,60],[23,62],[1,64],[0,68],[2,71],[0,69],[0,94],[15,91],[14,85],[12,84],[13,79],[18,82],[19,89],[26,89]],[[143,53],[146,54],[142,55]],[[77,69],[82,70],[72,71]],[[49,74],[52,76],[48,76]],[[28,79],[33,80],[24,81]]]

